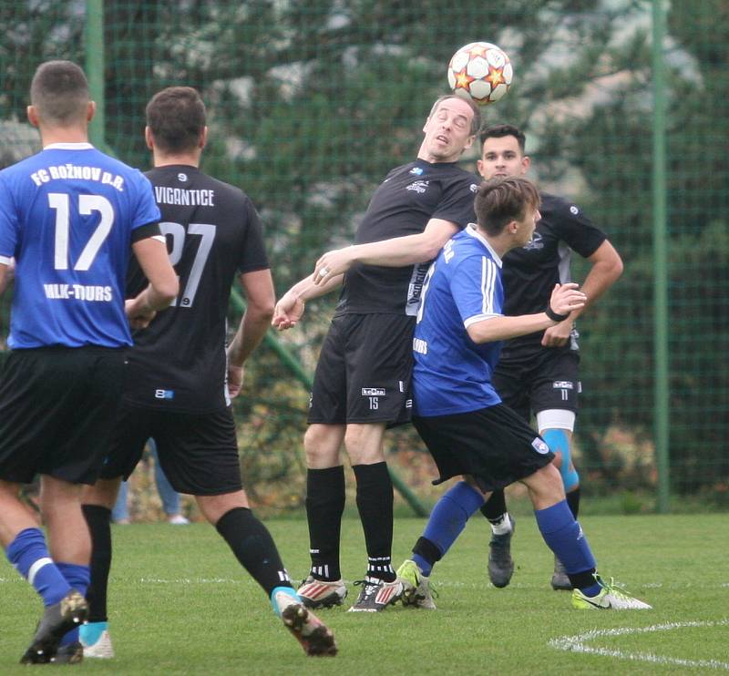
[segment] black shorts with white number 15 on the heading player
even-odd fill
[[[410,420],[415,318],[334,317],[314,374],[308,422],[325,425]]]

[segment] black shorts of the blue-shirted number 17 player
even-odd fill
[[[0,383],[0,478],[93,484],[124,386],[126,348],[14,350]]]

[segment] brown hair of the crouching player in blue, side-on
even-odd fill
[[[474,209],[478,227],[496,237],[512,220],[522,220],[527,209],[539,209],[539,191],[523,176],[501,176],[478,186]]]

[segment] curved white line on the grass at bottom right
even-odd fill
[[[652,631],[667,631],[683,629],[684,627],[721,627],[726,625],[729,625],[729,620],[718,620],[716,622],[668,622],[666,624],[653,624],[650,627],[617,627],[615,629],[586,631],[576,636],[561,636],[559,639],[549,640],[548,645],[557,650],[589,652],[593,655],[615,657],[619,660],[653,662],[654,664],[676,664],[682,667],[703,667],[729,671],[729,662],[718,660],[682,660],[681,658],[654,655],[652,652],[624,652],[623,650],[611,650],[585,645],[587,641],[599,639],[602,636],[626,636],[627,634],[647,634]]]

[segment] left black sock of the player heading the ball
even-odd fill
[[[342,578],[339,539],[344,512],[344,466],[306,471],[309,554],[315,579]]]

